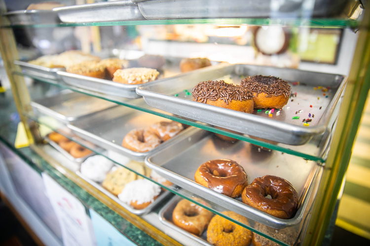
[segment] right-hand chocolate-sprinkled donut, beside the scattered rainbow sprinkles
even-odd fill
[[[241,85],[253,92],[256,109],[282,108],[288,103],[292,89],[280,78],[263,75],[243,79]]]

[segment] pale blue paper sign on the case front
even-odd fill
[[[98,246],[136,246],[92,209],[90,217]]]

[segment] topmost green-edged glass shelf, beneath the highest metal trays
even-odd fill
[[[4,25],[2,28],[57,28],[57,27],[91,27],[91,26],[139,26],[139,25],[177,25],[177,24],[213,24],[213,25],[280,25],[290,27],[311,28],[357,28],[359,20],[344,18],[317,18],[317,19],[274,19],[274,18],[220,18],[220,19],[177,19],[177,20],[144,20],[144,21],[114,21],[91,23],[55,23],[55,24],[27,24]]]

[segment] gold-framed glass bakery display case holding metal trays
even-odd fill
[[[211,244],[206,231],[196,236],[173,223],[181,198],[252,231],[256,240],[322,243],[369,91],[366,1],[117,0],[76,5],[79,1],[70,0],[47,10],[25,10],[27,3],[18,3],[1,1],[0,48],[37,155],[165,245],[179,242],[157,226],[159,220],[174,235]],[[127,85],[76,74],[66,64],[77,56],[57,57],[70,50],[99,60],[120,59],[125,68],[156,69],[159,75],[152,82]],[[46,62],[34,62],[39,57]],[[186,58],[207,58],[210,64],[184,72]],[[248,114],[193,101],[191,92],[201,81],[239,85],[259,74],[288,81],[286,105],[255,107]],[[42,88],[37,95],[30,90],[35,85]],[[130,130],[169,120],[185,129],[148,152],[124,147],[122,139]],[[102,182],[86,178],[80,170],[86,156],[71,158],[58,146],[50,148],[51,131],[161,186],[155,204],[160,209],[133,209]],[[288,180],[297,192],[294,215],[278,218],[246,205],[241,197],[197,184],[197,168],[214,159],[238,162],[248,184],[265,175]],[[171,184],[160,183],[148,170]]]

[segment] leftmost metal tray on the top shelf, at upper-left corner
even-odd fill
[[[52,10],[16,10],[3,16],[8,17],[11,25],[59,24],[58,14]]]

